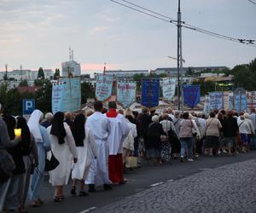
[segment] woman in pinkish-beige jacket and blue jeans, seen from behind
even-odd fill
[[[192,149],[193,149],[193,130],[196,130],[197,127],[195,123],[192,121],[191,118],[189,118],[189,112],[183,113],[183,121],[180,124],[180,130],[179,130],[179,139],[181,143],[181,149],[180,149],[180,161],[183,162],[185,151],[188,150],[189,162],[193,162],[192,158]]]

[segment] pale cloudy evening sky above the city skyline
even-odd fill
[[[122,0],[116,0],[124,3]],[[177,0],[130,0],[177,18]],[[256,0],[253,0],[256,2]],[[181,0],[182,19],[227,36],[256,39],[256,4]],[[0,0],[0,71],[61,68],[74,60],[87,73],[177,66],[177,26],[109,0]],[[248,63],[256,48],[183,28],[183,66]]]

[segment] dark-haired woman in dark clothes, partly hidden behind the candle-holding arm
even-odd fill
[[[15,126],[16,120],[11,115],[6,115],[3,117],[9,133],[9,139],[15,139]],[[2,134],[2,133],[1,133]],[[15,211],[20,208],[20,200],[22,196],[22,186],[23,186],[23,174],[25,173],[25,164],[22,158],[22,148],[23,144],[20,142],[17,146],[8,149],[9,154],[15,161],[15,170],[13,170],[13,176],[9,184],[9,190],[6,194],[6,201],[3,207],[7,212]]]

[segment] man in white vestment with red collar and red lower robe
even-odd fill
[[[116,103],[114,101],[108,103],[108,112],[105,115],[108,118],[110,126],[110,134],[108,135],[109,179],[113,184],[123,184],[125,183],[122,157],[123,142],[125,137],[129,134],[130,127],[125,121],[124,116],[116,112]]]

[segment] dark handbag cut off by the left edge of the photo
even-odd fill
[[[15,170],[15,161],[6,150],[0,150],[0,182],[7,181]]]

